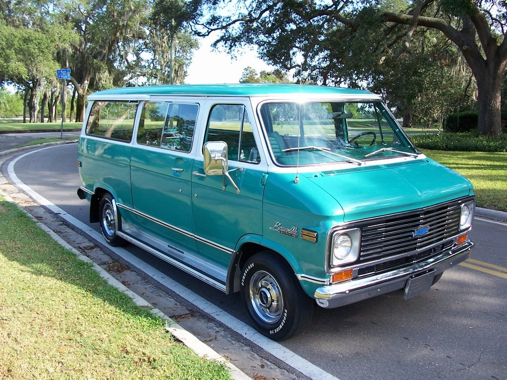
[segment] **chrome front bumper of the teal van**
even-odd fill
[[[463,245],[408,267],[357,280],[324,285],[315,290],[314,298],[318,306],[332,309],[403,289],[410,279],[428,273],[436,276],[466,260],[470,256],[473,247],[474,243],[467,241]]]

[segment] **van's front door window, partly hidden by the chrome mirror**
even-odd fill
[[[248,113],[242,104],[217,104],[211,108],[204,142],[207,141],[225,141],[229,160],[261,162]]]

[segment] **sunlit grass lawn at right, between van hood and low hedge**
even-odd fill
[[[507,211],[507,153],[423,151],[472,181],[479,207]]]

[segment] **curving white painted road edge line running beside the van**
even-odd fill
[[[47,207],[52,212],[60,215],[62,218],[67,220],[69,223],[75,225],[78,227],[78,229],[82,230],[89,236],[91,236],[93,239],[97,241],[102,241],[102,235],[99,234],[97,231],[93,230],[91,227],[86,225],[85,223],[81,222],[74,216],[68,214],[58,206],[51,203],[46,198],[42,197],[40,194],[36,193],[31,189],[29,186],[24,184],[16,175],[14,172],[14,166],[16,163],[24,158],[25,156],[28,156],[32,153],[36,153],[38,151],[44,150],[44,149],[51,149],[54,148],[53,146],[32,150],[28,153],[25,153],[24,155],[21,155],[11,161],[8,166],[8,173],[11,179],[14,181],[14,183],[23,189],[24,192],[26,192],[30,197],[32,197],[35,201],[40,203],[41,205]],[[297,355],[296,353],[292,352],[291,350],[288,350],[287,348],[283,347],[282,345],[276,343],[275,341],[261,335],[258,333],[255,329],[253,329],[251,326],[246,325],[245,323],[241,322],[237,318],[233,317],[229,313],[225,312],[224,310],[220,309],[219,307],[213,305],[213,303],[205,300],[201,296],[197,295],[196,293],[190,291],[185,286],[179,284],[178,282],[172,280],[171,278],[168,278],[163,273],[159,272],[155,268],[153,268],[151,265],[147,264],[146,262],[140,260],[139,258],[132,255],[130,252],[125,250],[124,248],[120,247],[108,247],[112,251],[114,251],[118,256],[122,257],[124,260],[127,260],[128,262],[131,262],[135,267],[139,268],[144,273],[148,274],[149,276],[153,277],[158,282],[162,283],[164,286],[167,286],[169,289],[173,290],[178,295],[185,298],[187,301],[191,302],[193,305],[204,311],[205,313],[213,316],[218,321],[222,322],[232,330],[236,331],[238,334],[242,335],[246,339],[250,340],[252,343],[256,344],[257,346],[261,347],[265,351],[269,352],[271,355],[276,357],[277,359],[283,361],[287,365],[293,367],[294,369],[298,370],[305,376],[308,376],[312,380],[339,380],[337,377],[333,376],[332,374],[325,372],[323,369],[317,367],[313,363],[310,363],[308,360],[302,358],[301,356]]]

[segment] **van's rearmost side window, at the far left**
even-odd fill
[[[137,102],[95,101],[88,117],[86,134],[130,142]]]

